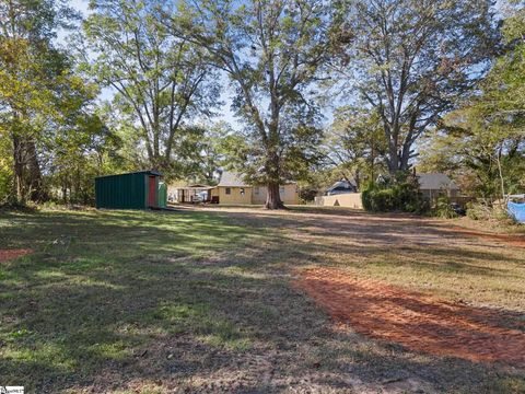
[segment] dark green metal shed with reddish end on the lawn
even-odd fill
[[[95,178],[96,208],[147,209],[159,208],[156,171],[97,176]]]

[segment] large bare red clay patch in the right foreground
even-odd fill
[[[438,356],[525,367],[525,324],[510,314],[358,279],[338,269],[306,270],[294,285],[360,334]],[[502,325],[510,321],[518,329]]]

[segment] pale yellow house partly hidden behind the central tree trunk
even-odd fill
[[[219,185],[211,189],[211,201],[232,205],[262,205],[266,202],[267,190],[266,186],[246,184],[241,174],[224,171]],[[280,185],[279,195],[283,204],[299,204],[299,188],[294,182]]]

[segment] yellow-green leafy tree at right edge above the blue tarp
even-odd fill
[[[504,50],[480,93],[445,117],[422,150],[423,169],[470,177],[487,198],[525,187],[525,3],[504,8]]]

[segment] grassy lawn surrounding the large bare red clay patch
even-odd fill
[[[0,213],[0,248],[33,250],[0,263],[0,384],[524,392],[523,369],[368,339],[290,286],[334,266],[523,322],[525,250],[445,227],[315,209]]]

